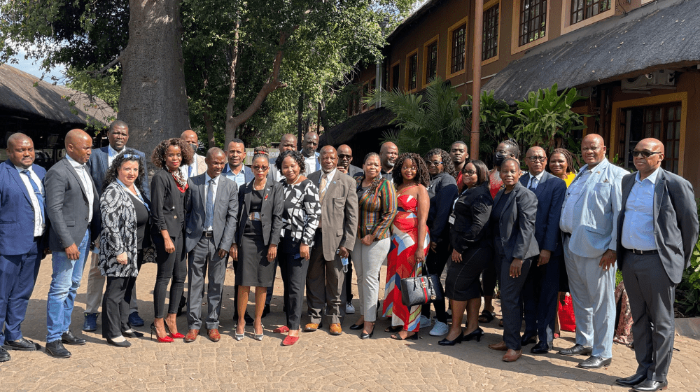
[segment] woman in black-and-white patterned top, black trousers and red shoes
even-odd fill
[[[299,340],[304,285],[311,257],[310,248],[314,246],[321,216],[321,203],[318,202],[318,189],[313,181],[302,175],[305,169],[302,153],[285,151],[277,157],[275,165],[284,176],[281,181],[284,208],[277,260],[284,283],[287,324],[274,332],[288,332],[282,345],[291,346]]]

